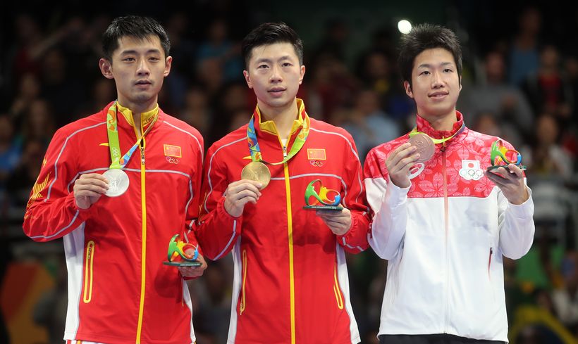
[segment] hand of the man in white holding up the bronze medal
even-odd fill
[[[410,187],[410,168],[415,165],[419,158],[419,153],[415,153],[417,148],[409,142],[402,144],[395,151],[391,152],[386,160],[389,180],[401,189]]]

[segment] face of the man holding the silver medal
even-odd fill
[[[165,56],[159,37],[122,37],[111,58],[101,58],[99,65],[105,77],[114,79],[118,102],[133,110],[154,108],[173,60]]]

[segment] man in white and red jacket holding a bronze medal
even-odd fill
[[[412,132],[435,148],[417,163],[405,134],[365,160],[369,244],[388,260],[380,343],[507,342],[503,256],[522,257],[534,238],[524,173],[514,164],[486,172],[498,138],[465,127],[455,109],[462,55],[453,32],[414,27],[399,61],[417,106]]]

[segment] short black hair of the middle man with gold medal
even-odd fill
[[[295,49],[295,53],[299,57],[299,63],[303,65],[303,41],[289,25],[280,22],[263,23],[245,36],[241,43],[245,68],[249,69],[249,60],[254,48],[275,43],[290,43],[293,45],[293,49]]]

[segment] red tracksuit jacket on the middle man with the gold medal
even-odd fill
[[[300,119],[286,151],[307,116],[297,99]],[[283,147],[273,122],[260,122],[254,112],[263,159],[283,160]],[[201,221],[195,226],[204,254],[219,259],[231,250],[235,264],[233,305],[228,343],[358,343],[345,251],[367,248],[369,217],[362,169],[351,136],[345,130],[311,119],[305,146],[281,165],[269,165],[271,182],[257,204],[247,203],[241,217],[228,215],[223,192],[241,179],[250,163],[247,125],[209,148],[204,163]],[[340,192],[351,210],[352,225],[336,236],[304,210],[305,188],[321,179]]]

